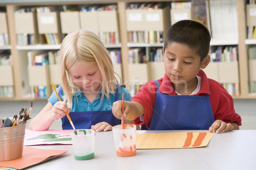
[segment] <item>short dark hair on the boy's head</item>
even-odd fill
[[[170,43],[177,42],[195,49],[203,61],[209,53],[210,40],[209,30],[203,24],[193,20],[181,20],[168,29],[163,51]]]

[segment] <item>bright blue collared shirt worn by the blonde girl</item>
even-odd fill
[[[62,90],[62,86],[56,89],[58,95],[62,99],[64,96],[64,91]],[[122,100],[122,94],[124,93],[124,100],[131,101],[131,94],[129,93],[128,89],[126,88],[119,88],[118,100]],[[76,97],[77,96],[77,97]],[[112,111],[113,102],[115,102],[115,95],[109,94],[109,98],[106,96],[103,97],[101,101],[102,92],[98,94],[98,98],[93,100],[90,103],[83,93],[80,91],[76,92],[76,96],[72,99],[72,108],[70,112],[77,112],[77,111]],[[49,97],[48,101],[54,105],[58,102],[58,97],[56,96],[55,92]]]

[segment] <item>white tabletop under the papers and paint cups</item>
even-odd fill
[[[137,133],[206,132],[206,130],[137,130]],[[95,134],[95,158],[76,160],[72,145],[37,145],[44,149],[69,150],[26,170],[253,170],[256,130],[214,133],[206,147],[137,150],[131,157],[116,156],[113,132]]]

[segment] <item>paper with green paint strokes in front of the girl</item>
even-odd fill
[[[24,146],[38,144],[72,144],[70,133],[74,130],[25,131]]]

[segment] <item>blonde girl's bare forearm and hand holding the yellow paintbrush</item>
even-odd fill
[[[30,130],[48,130],[54,120],[62,118],[70,112],[66,102],[56,102],[52,106],[50,102],[29,123]]]

